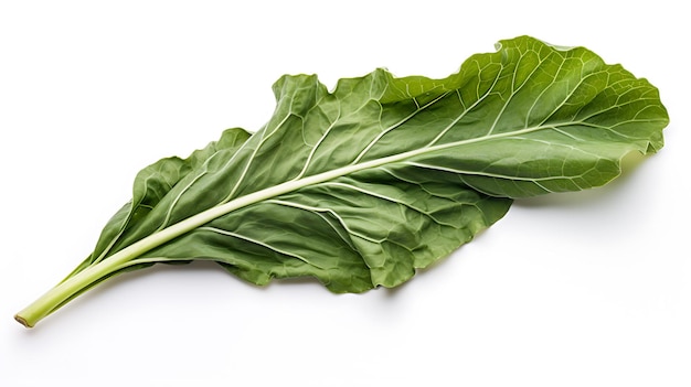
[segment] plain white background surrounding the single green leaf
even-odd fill
[[[2,1],[0,385],[691,386],[682,2]],[[500,39],[584,45],[661,90],[662,151],[615,183],[519,201],[395,290],[155,267],[25,330],[134,175],[259,128],[284,73],[443,77]]]

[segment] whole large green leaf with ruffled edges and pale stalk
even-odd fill
[[[253,283],[311,276],[395,287],[500,219],[513,198],[578,191],[662,147],[658,90],[582,49],[502,41],[444,79],[376,69],[327,90],[284,76],[276,110],[135,180],[94,254],[18,314],[28,326],[104,278],[212,260]]]

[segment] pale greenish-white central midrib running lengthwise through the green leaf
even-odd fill
[[[576,123],[576,122],[566,122],[566,123],[571,125],[571,123]],[[555,127],[554,126],[535,126],[535,127],[519,129],[519,130],[514,130],[510,132],[493,133],[493,135],[487,135],[487,136],[482,136],[482,137],[478,137],[474,139],[454,141],[454,142],[435,144],[435,146],[426,146],[426,147],[422,147],[419,149],[415,149],[412,151],[397,153],[397,154],[384,157],[381,159],[374,159],[370,161],[349,164],[349,165],[338,168],[331,171],[322,172],[319,174],[301,178],[298,180],[287,181],[281,184],[278,184],[268,189],[264,189],[264,190],[247,194],[242,197],[234,198],[230,202],[209,208],[187,219],[180,221],[177,224],[170,225],[159,232],[156,232],[155,234],[151,234],[150,236],[143,239],[140,239],[134,243],[132,245],[115,252],[113,256],[108,257],[107,259],[104,259],[96,265],[85,268],[84,270],[79,271],[78,273],[68,278],[67,280],[61,282],[51,291],[49,291],[46,294],[44,294],[44,297],[41,298],[41,300],[43,301],[42,304],[43,305],[53,304],[55,305],[55,308],[57,308],[64,301],[68,300],[71,297],[73,297],[74,294],[83,290],[84,288],[88,287],[89,284],[96,282],[97,280],[104,278],[107,275],[110,275],[113,272],[116,272],[118,270],[121,270],[124,268],[127,268],[129,266],[134,266],[137,264],[164,261],[166,258],[163,257],[161,257],[160,259],[152,259],[152,258],[137,259],[137,257],[141,256],[142,254],[158,246],[166,244],[167,241],[170,241],[179,236],[182,236],[198,227],[203,226],[204,224],[210,223],[213,219],[216,219],[238,208],[243,208],[255,203],[274,198],[276,196],[279,196],[289,192],[294,192],[306,186],[311,186],[311,185],[316,185],[316,184],[323,183],[327,181],[331,181],[333,179],[344,176],[344,175],[348,175],[358,171],[373,169],[373,168],[378,168],[381,165],[391,164],[395,162],[401,162],[401,161],[412,159],[412,158],[415,158],[425,153],[432,153],[432,152],[436,152],[436,151],[444,150],[447,148],[463,147],[463,146],[472,144],[472,143],[481,142],[481,141],[489,141],[489,140],[495,140],[495,139],[500,139],[500,138],[527,135],[527,133],[543,130],[543,129],[555,129]],[[29,307],[26,311],[29,311],[30,308],[31,307]],[[38,320],[41,320],[43,316],[50,314],[53,310],[54,309],[41,310],[40,312],[33,311],[33,312],[35,312],[36,314],[42,314],[38,319]]]

